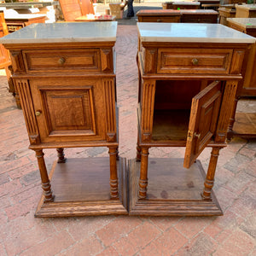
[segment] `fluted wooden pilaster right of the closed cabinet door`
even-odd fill
[[[113,79],[104,80],[107,141],[116,142],[115,90]]]

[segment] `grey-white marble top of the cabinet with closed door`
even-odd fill
[[[38,23],[0,38],[0,44],[115,42],[116,32],[117,21]]]

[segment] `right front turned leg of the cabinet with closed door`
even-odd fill
[[[119,182],[116,166],[117,147],[108,147],[110,162],[110,196],[111,199],[119,199]]]

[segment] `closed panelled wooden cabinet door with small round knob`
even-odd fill
[[[101,79],[32,79],[41,143],[106,140]]]

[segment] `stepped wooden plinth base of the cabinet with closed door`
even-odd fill
[[[49,174],[53,202],[42,196],[35,217],[128,214],[125,159],[117,161],[119,199],[110,199],[109,158],[67,159]]]

